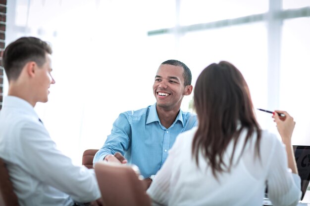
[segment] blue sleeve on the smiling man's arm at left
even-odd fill
[[[126,113],[121,113],[113,123],[111,134],[107,136],[103,147],[96,153],[93,163],[102,161],[106,155],[114,155],[116,152],[122,155],[131,145],[131,125]]]

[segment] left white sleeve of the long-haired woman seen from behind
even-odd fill
[[[180,158],[182,151],[182,137],[179,135],[173,144],[165,163],[156,174],[155,180],[147,190],[148,195],[152,200],[152,206],[167,206],[170,199],[170,179],[174,169],[174,162]]]

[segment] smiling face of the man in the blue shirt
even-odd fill
[[[185,94],[183,72],[184,69],[180,66],[159,66],[153,84],[157,107],[167,110],[180,108]]]

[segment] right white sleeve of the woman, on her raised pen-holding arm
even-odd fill
[[[276,141],[267,175],[268,196],[274,206],[296,206],[301,198],[301,179],[288,168],[285,145]]]

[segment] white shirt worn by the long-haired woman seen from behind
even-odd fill
[[[260,157],[255,157],[255,137],[247,143],[240,161],[245,131],[235,149],[230,172],[212,175],[202,154],[199,167],[192,157],[192,141],[197,127],[181,133],[155,181],[147,193],[153,205],[163,206],[261,206],[268,182],[268,194],[274,206],[296,206],[301,197],[301,179],[288,169],[284,144],[275,134],[262,132]],[[223,160],[229,163],[232,143]]]

